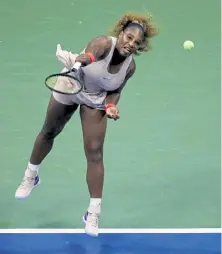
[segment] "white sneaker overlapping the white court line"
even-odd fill
[[[98,236],[99,234],[99,214],[86,212],[83,216],[85,223],[85,232],[90,236]]]

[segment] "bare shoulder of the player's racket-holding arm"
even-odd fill
[[[109,36],[100,35],[93,38],[87,45],[85,52],[92,53],[97,60],[105,58],[112,47],[112,39]]]

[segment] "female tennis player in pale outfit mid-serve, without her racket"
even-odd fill
[[[98,235],[104,180],[103,144],[107,117],[117,120],[117,103],[127,81],[136,70],[134,55],[150,49],[149,39],[157,34],[149,17],[125,14],[114,27],[114,36],[92,39],[80,54],[62,50],[56,56],[64,70],[75,62],[82,64],[84,90],[76,95],[53,92],[45,122],[38,134],[31,157],[18,187],[16,199],[27,198],[40,184],[39,167],[52,149],[54,139],[63,130],[73,113],[80,107],[84,150],[87,160],[87,185],[90,203],[83,216],[85,232]]]

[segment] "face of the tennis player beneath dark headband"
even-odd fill
[[[127,28],[119,35],[116,48],[122,56],[129,56],[135,53],[143,42],[143,31],[137,27]]]

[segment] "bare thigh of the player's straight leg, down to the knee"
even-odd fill
[[[80,118],[86,155],[90,152],[102,153],[107,128],[105,111],[81,105]]]

